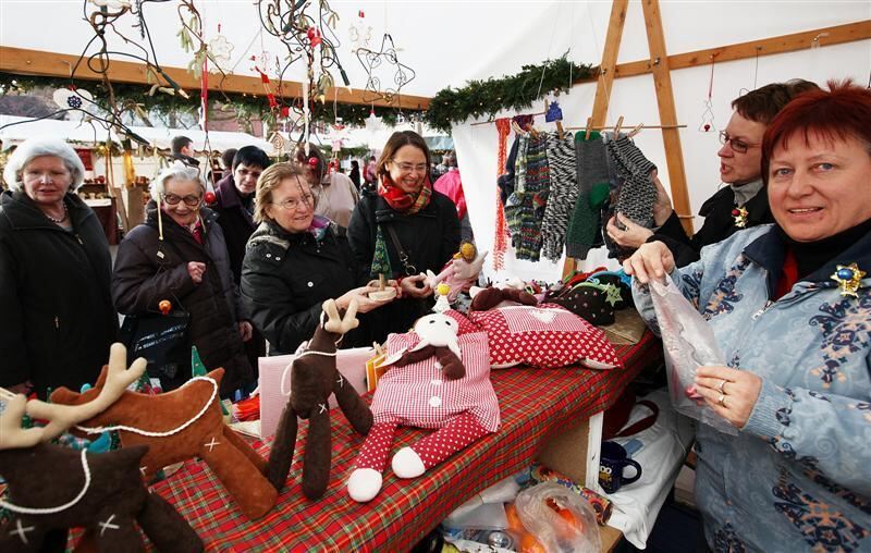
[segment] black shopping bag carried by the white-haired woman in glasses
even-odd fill
[[[148,361],[148,376],[160,380],[164,392],[191,379],[191,314],[127,315],[121,324],[121,342],[127,346],[127,364],[137,357]]]

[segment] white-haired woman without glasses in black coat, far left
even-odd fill
[[[118,333],[112,260],[77,195],[85,167],[60,139],[32,138],[0,195],[0,385],[15,392],[93,383]]]

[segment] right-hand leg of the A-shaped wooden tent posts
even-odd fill
[[[659,0],[643,0],[645,27],[650,58],[653,62],[653,85],[657,89],[657,105],[660,109],[662,140],[665,144],[665,164],[668,168],[668,181],[672,185],[672,202],[677,213],[689,213],[689,194],[687,193],[687,174],[684,169],[684,150],[680,147],[680,134],[677,128],[677,110],[674,106],[672,89],[672,72],[668,66],[668,54],[665,51],[665,36],[662,32],[662,16]],[[659,63],[657,63],[657,60]],[[692,219],[682,219],[680,223],[691,236]]]

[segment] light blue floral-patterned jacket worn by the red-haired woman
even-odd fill
[[[871,274],[871,234],[771,302],[784,256],[763,225],[703,248],[671,275],[727,365],[763,382],[737,435],[698,427],[696,502],[708,544],[871,551],[871,278],[858,297],[832,278],[852,262]],[[655,328],[649,291],[633,288]]]

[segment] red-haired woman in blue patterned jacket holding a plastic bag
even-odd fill
[[[871,551],[871,90],[830,83],[771,123],[775,224],[675,270],[660,242],[625,268],[670,274],[728,367],[697,390],[739,429],[699,425],[696,502],[715,551]],[[654,321],[646,286],[636,306]]]

